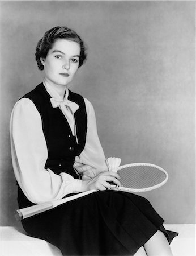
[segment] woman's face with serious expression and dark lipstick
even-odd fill
[[[80,46],[78,43],[57,39],[48,51],[46,58],[41,58],[45,78],[54,86],[65,86],[73,80],[78,70]]]

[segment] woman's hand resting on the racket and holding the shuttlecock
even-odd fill
[[[101,172],[99,175],[93,177],[92,179],[82,181],[82,191],[88,191],[91,189],[105,190],[110,189],[111,185],[108,182],[113,182],[114,184],[120,186],[119,181],[120,176],[113,171]]]

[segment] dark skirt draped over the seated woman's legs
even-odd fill
[[[176,232],[144,197],[99,191],[22,221],[24,230],[57,246],[63,255],[134,255],[161,230],[170,243]]]

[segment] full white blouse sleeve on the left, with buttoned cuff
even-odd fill
[[[10,121],[12,165],[16,180],[32,203],[80,192],[82,180],[45,169],[48,151],[41,116],[28,98],[16,102]]]

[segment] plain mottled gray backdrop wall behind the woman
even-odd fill
[[[195,222],[195,3],[1,2],[1,225],[15,221],[8,125],[14,103],[42,81],[37,41],[66,25],[88,45],[70,85],[96,112],[105,155],[147,162],[169,180],[140,195],[167,224]]]

